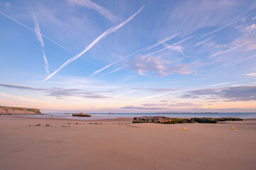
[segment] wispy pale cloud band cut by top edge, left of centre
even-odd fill
[[[116,23],[118,21],[118,18],[116,18],[116,16],[114,16],[110,11],[108,11],[106,8],[103,8],[102,6],[99,6],[98,4],[95,4],[92,1],[89,1],[89,0],[66,0],[66,1],[68,1],[70,4],[74,4],[77,6],[85,6],[86,8],[93,9],[99,12],[101,16],[104,16],[104,18],[106,18],[108,21],[111,21],[112,23]]]

